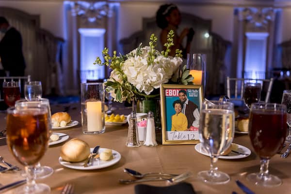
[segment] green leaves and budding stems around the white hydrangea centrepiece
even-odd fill
[[[170,47],[174,45],[174,31],[170,30],[170,32],[167,35],[167,43],[164,44],[166,46],[166,50],[162,51],[161,54],[164,57],[168,57],[169,53],[171,52]],[[147,58],[147,65],[152,65],[154,63],[154,60],[157,58],[157,54],[159,54],[159,51],[155,49],[157,45],[157,37],[155,34],[151,34],[150,36],[150,42],[149,47],[150,50],[148,52],[148,58]],[[111,57],[109,54],[109,49],[104,48],[102,51],[102,56],[104,58],[104,62],[97,57],[96,60],[93,62],[93,64],[98,65],[106,65],[109,66],[112,70],[114,70],[114,73],[118,77],[118,79],[122,81],[117,81],[113,77],[110,77],[110,81],[105,82],[106,91],[108,92],[114,92],[116,97],[115,101],[117,102],[123,102],[124,100],[130,102],[134,100],[137,97],[144,97],[146,99],[158,97],[160,95],[159,90],[156,90],[155,92],[152,92],[150,95],[146,95],[145,92],[138,91],[135,86],[133,86],[131,83],[127,80],[127,75],[124,74],[124,71],[122,70],[124,62],[129,57],[135,57],[135,56],[142,56],[143,55],[143,49],[142,49],[142,43],[135,49],[134,52],[130,52],[127,55],[122,55],[119,53],[119,56],[116,56],[116,51],[113,51],[113,56]],[[182,57],[182,51],[179,49],[176,49],[176,56],[178,58]],[[179,71],[179,77],[178,77],[178,84],[193,84],[192,75],[189,75],[189,70],[186,69],[186,65],[182,68],[182,71]],[[177,82],[175,82],[177,84]]]

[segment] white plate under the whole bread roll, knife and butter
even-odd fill
[[[93,151],[94,148],[91,148],[90,151]],[[100,148],[99,153],[101,153],[104,149],[106,148]],[[93,165],[84,167],[83,164],[84,162],[79,162],[79,163],[69,163],[63,161],[62,157],[59,157],[59,163],[62,164],[65,167],[72,168],[72,169],[77,169],[77,170],[94,170],[94,169],[100,169],[100,168],[106,168],[108,166],[112,166],[113,164],[118,163],[121,159],[121,155],[118,151],[112,150],[113,159],[110,161],[102,161],[100,159],[94,159]]]

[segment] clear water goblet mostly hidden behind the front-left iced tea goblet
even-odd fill
[[[38,101],[27,101],[25,99],[21,99],[21,100],[16,101],[15,107],[23,108],[23,107],[37,106],[38,104],[44,104],[48,108],[49,130],[50,130],[51,129],[51,112],[50,112],[49,99],[40,98]],[[44,179],[52,175],[53,169],[49,166],[42,166],[40,162],[38,162],[34,166],[34,173],[35,173],[36,179]]]

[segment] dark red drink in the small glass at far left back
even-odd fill
[[[15,102],[20,99],[19,86],[3,87],[4,102],[8,106],[14,106]]]

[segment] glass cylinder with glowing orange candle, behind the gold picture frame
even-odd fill
[[[205,91],[206,84],[206,54],[187,54],[187,69],[194,77],[193,83],[195,85],[202,85]]]

